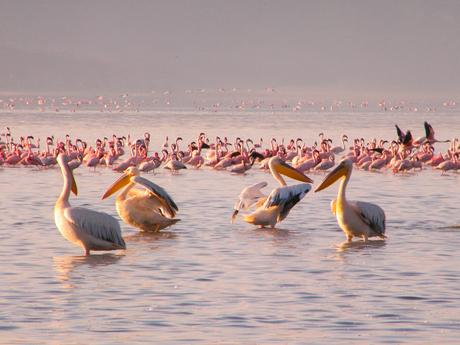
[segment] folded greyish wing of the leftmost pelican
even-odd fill
[[[121,236],[120,224],[107,213],[83,207],[69,207],[65,209],[64,217],[88,235],[111,242],[120,248],[126,248],[125,241]]]

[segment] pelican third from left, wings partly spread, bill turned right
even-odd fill
[[[253,213],[244,216],[244,221],[261,228],[265,226],[274,228],[277,223],[287,217],[289,211],[310,191],[311,185],[308,183],[313,181],[297,169],[286,164],[279,157],[270,158],[268,166],[273,178],[279,182],[281,187],[272,190],[267,198],[260,191],[267,185],[265,182],[243,189],[239,200],[235,204],[232,221],[240,209],[248,209],[256,205],[257,209]],[[280,174],[307,183],[287,186]]]

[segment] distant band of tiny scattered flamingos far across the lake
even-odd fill
[[[278,111],[360,111],[380,112],[435,112],[458,110],[454,100],[441,103],[414,103],[408,100],[391,101],[334,100],[324,101],[292,97],[289,93],[271,87],[264,89],[187,89],[152,90],[144,94],[95,95],[89,97],[66,96],[0,96],[0,110],[15,112],[38,110],[40,112],[97,111],[101,113],[139,112],[153,108],[187,106],[197,111],[219,112],[221,110],[278,110]]]

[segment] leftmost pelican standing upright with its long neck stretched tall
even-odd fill
[[[70,191],[77,195],[77,184],[67,161],[66,156],[59,154],[57,162],[61,167],[64,186],[54,206],[54,221],[61,235],[83,247],[85,255],[89,255],[90,250],[126,249],[120,225],[115,218],[107,213],[70,206]]]

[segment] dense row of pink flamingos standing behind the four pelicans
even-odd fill
[[[269,171],[268,162],[273,156],[289,162],[303,173],[328,171],[342,159],[350,159],[356,169],[366,171],[407,173],[433,168],[446,174],[460,169],[458,138],[438,140],[427,122],[424,123],[425,136],[417,139],[413,138],[411,130],[404,132],[398,125],[395,127],[397,136],[391,141],[376,138],[350,140],[344,134],[341,144],[333,146],[331,138],[319,133],[311,145],[301,138],[288,141],[271,138],[269,145],[264,147],[262,138],[238,137],[231,141],[226,136],[217,136],[213,140],[200,133],[187,144],[183,144],[181,137],[174,141],[166,137],[157,150],[151,147],[148,132],[139,139],[133,139],[129,134],[113,134],[89,144],[69,135],[62,140],[55,139],[54,135],[43,141],[32,135],[15,138],[11,129],[6,127],[0,136],[0,165],[52,167],[57,165],[58,154],[65,153],[71,169],[86,166],[92,170],[110,168],[120,173],[129,167],[136,167],[143,173],[163,167],[174,173],[187,168],[208,168],[244,174],[255,163],[260,169]],[[440,142],[449,143],[447,151],[436,151],[435,145]]]

